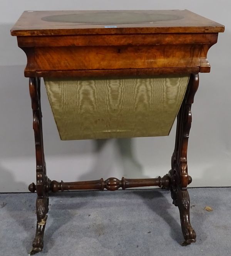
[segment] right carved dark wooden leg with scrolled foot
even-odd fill
[[[189,214],[190,199],[187,185],[191,183],[192,179],[187,172],[187,144],[192,122],[191,105],[198,86],[198,74],[191,74],[186,95],[177,115],[176,142],[172,155],[172,169],[169,171],[171,197],[173,204],[179,208],[181,228],[185,239],[182,245],[196,242],[196,232],[192,229]]]

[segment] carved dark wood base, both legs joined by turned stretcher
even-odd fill
[[[77,182],[58,182],[50,181],[46,175],[46,166],[44,159],[44,146],[42,135],[42,112],[40,107],[40,80],[39,78],[30,79],[30,97],[33,110],[33,129],[35,134],[36,149],[36,171],[37,183],[29,185],[30,192],[37,191],[37,229],[33,241],[31,254],[35,254],[43,249],[44,230],[47,221],[49,192],[58,192],[64,190],[117,190],[119,188],[135,188],[141,186],[159,186],[171,188],[171,197],[174,205],[179,208],[181,218],[181,228],[185,241],[182,245],[191,244],[196,241],[196,233],[190,223],[190,199],[187,192],[187,185],[191,183],[192,178],[187,173],[187,143],[189,131],[191,128],[192,116],[191,105],[194,95],[199,85],[199,77],[191,74],[186,94],[181,108],[177,115],[177,129],[175,149],[172,155],[172,169],[163,178],[149,179],[126,179],[108,178],[107,180],[77,181]]]

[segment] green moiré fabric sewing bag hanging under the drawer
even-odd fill
[[[189,76],[44,78],[62,140],[167,136]]]

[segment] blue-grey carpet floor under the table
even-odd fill
[[[182,247],[179,211],[169,191],[66,192],[50,195],[46,256],[231,255],[231,188],[191,188],[197,242]],[[0,194],[0,255],[28,255],[35,194]],[[213,208],[212,212],[204,210]]]

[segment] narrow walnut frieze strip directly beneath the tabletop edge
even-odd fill
[[[127,34],[75,36],[18,36],[20,47],[46,46],[142,46],[158,44],[215,44],[218,33]]]

